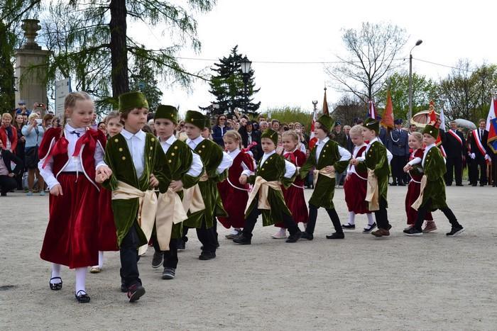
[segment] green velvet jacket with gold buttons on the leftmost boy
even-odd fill
[[[160,147],[158,139],[150,133],[146,134],[144,155],[145,167],[143,174],[138,178],[133,158],[126,144],[126,138],[119,134],[109,139],[105,148],[105,163],[112,169],[112,176],[102,185],[106,189],[115,190],[117,181],[124,181],[136,189],[147,191],[150,187],[150,175],[154,174],[159,181],[160,192],[165,192],[171,180],[170,170],[168,167],[163,167],[166,162],[163,149]],[[112,200],[112,211],[119,246],[135,223],[140,240],[138,246],[147,243],[146,236],[138,225],[138,198]]]

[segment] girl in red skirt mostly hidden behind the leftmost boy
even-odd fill
[[[121,133],[123,123],[121,123],[121,115],[112,111],[105,118],[105,126],[107,128],[107,138],[112,138],[114,135]],[[114,223],[114,213],[111,207],[111,191],[100,188],[99,196],[99,264],[91,267],[89,272],[97,274],[102,271],[104,265],[104,252],[119,251],[117,245],[116,225]]]

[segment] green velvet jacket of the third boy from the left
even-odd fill
[[[214,226],[214,216],[228,216],[228,213],[224,210],[221,196],[217,191],[217,183],[224,181],[228,172],[226,170],[222,174],[217,174],[217,167],[219,167],[223,159],[223,150],[217,143],[204,139],[197,145],[195,152],[200,155],[202,162],[204,162],[204,170],[209,176],[207,181],[198,182],[204,199],[205,210],[197,211],[196,213],[188,212],[188,219],[183,222],[183,225],[189,228],[202,228],[202,223],[205,222],[207,228],[212,228]]]

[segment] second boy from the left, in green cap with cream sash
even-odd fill
[[[178,239],[182,237],[182,221],[187,218],[182,205],[183,189],[195,186],[204,172],[200,156],[185,142],[175,138],[177,123],[178,110],[175,107],[157,107],[155,131],[167,159],[165,166],[169,168],[172,179],[168,191],[159,195],[159,203],[166,201],[161,212],[167,217],[155,218],[155,233],[152,235],[155,249],[152,267],[158,268],[163,264],[163,279],[174,279],[178,267]]]

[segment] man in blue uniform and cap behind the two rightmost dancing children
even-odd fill
[[[405,172],[403,168],[408,162],[409,157],[409,135],[407,131],[402,130],[401,119],[397,119],[393,122],[395,128],[390,131],[386,136],[386,147],[392,153],[393,159],[391,162],[392,166],[392,185],[405,186]]]

